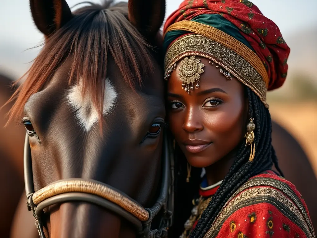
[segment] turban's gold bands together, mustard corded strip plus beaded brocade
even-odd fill
[[[193,21],[174,23],[166,32],[170,30],[186,30],[193,32],[193,34],[181,36],[167,50],[164,62],[166,80],[170,77],[171,72],[176,69],[176,63],[179,60],[184,58],[180,66],[180,74],[183,73],[184,75],[183,64],[185,57],[201,56],[209,59],[211,64],[216,63],[216,67],[220,67],[220,73],[223,73],[227,79],[231,79],[232,75],[249,87],[268,107],[266,103],[266,92],[269,82],[268,74],[261,59],[247,46],[221,30]],[[195,57],[190,59],[194,60]],[[189,69],[186,70],[188,71]],[[196,76],[194,77],[197,78],[195,80],[197,80],[198,87],[199,74],[197,68]],[[192,82],[190,83],[191,87],[189,87],[190,84],[186,84],[186,81],[183,81],[182,86],[185,86],[186,91],[193,89]]]

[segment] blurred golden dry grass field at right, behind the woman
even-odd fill
[[[272,119],[300,142],[317,176],[317,102],[269,102]]]

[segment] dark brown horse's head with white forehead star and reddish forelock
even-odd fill
[[[160,191],[165,1],[30,7],[45,44],[12,108],[28,134],[29,206],[49,237],[134,237]]]

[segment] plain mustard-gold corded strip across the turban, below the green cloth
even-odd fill
[[[232,51],[235,51],[237,54],[242,56],[246,61],[248,61],[249,64],[251,64],[259,72],[259,74],[262,76],[262,79],[264,80],[266,84],[266,88],[268,88],[268,83],[269,83],[268,73],[261,59],[259,58],[259,56],[256,55],[255,52],[250,50],[249,47],[247,47],[245,44],[241,43],[234,37],[212,26],[208,26],[208,25],[205,25],[199,22],[193,22],[193,21],[181,21],[181,22],[174,23],[167,28],[165,34],[172,30],[190,31],[195,34],[205,36],[214,41],[217,41],[218,43],[222,44],[226,48]]]

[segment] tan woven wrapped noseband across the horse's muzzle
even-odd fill
[[[34,204],[37,205],[40,202],[43,202],[45,199],[69,192],[81,192],[100,196],[119,205],[127,212],[139,218],[140,221],[146,221],[149,219],[149,213],[145,208],[141,207],[139,204],[133,202],[131,199],[118,193],[117,191],[103,184],[92,181],[68,180],[55,182],[36,191],[33,194],[32,199]]]

